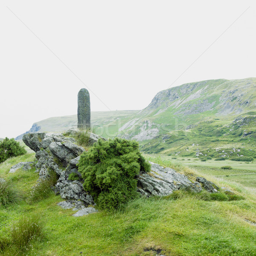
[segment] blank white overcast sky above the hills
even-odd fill
[[[1,0],[0,137],[76,114],[83,87],[91,111],[132,110],[170,86],[255,77],[255,2]]]

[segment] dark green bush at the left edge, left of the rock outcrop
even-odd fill
[[[17,157],[26,154],[26,149],[20,146],[20,143],[13,138],[7,137],[0,142],[0,163],[4,162],[9,157]]]

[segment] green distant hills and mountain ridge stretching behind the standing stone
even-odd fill
[[[207,145],[232,148],[234,141],[236,147],[245,141],[253,143],[254,116],[256,78],[217,79],[160,91],[140,111],[92,112],[91,124],[96,134],[137,140],[148,153],[186,155],[204,151]],[[33,126],[40,127],[39,131],[62,132],[76,125],[73,115],[52,117]]]

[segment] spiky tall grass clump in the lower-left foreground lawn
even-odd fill
[[[43,237],[43,224],[40,219],[40,215],[22,216],[13,223],[9,231],[12,244],[23,250],[26,249],[30,241],[41,239]]]

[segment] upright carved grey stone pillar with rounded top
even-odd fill
[[[77,128],[90,129],[90,94],[88,90],[81,89],[78,93]]]

